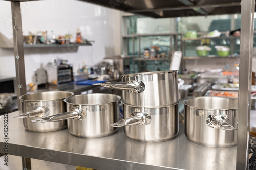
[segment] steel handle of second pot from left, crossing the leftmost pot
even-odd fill
[[[81,115],[83,112],[82,109],[76,109],[72,112],[66,112],[66,113],[59,113],[59,114],[55,114],[52,116],[48,116],[48,117],[44,117],[41,119],[36,119],[36,120],[31,120],[32,122],[35,123],[44,123],[44,122],[57,122],[57,121],[61,121],[61,120],[67,120],[67,119],[77,119],[77,120],[83,120],[86,117],[86,114],[83,113],[83,116]]]

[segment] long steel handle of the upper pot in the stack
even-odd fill
[[[133,81],[131,83],[123,82],[106,82],[106,83],[95,83],[93,85],[103,86],[106,88],[116,90],[129,90],[131,93],[141,93],[145,90],[145,84],[141,81]]]

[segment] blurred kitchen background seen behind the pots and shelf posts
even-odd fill
[[[80,1],[21,5],[28,93],[118,93],[91,84],[120,80],[121,74],[170,70],[171,63],[178,64],[181,99],[238,89],[240,37],[232,31],[240,29],[240,14],[154,19]],[[0,1],[0,16],[4,113],[17,109],[10,2]]]

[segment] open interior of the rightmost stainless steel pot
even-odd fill
[[[184,105],[202,109],[238,109],[238,100],[221,97],[197,97],[187,99]]]

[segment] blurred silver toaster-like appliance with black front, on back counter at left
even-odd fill
[[[60,63],[52,64],[48,63],[45,67],[47,71],[47,82],[54,85],[59,85],[63,83],[73,82],[73,65]]]

